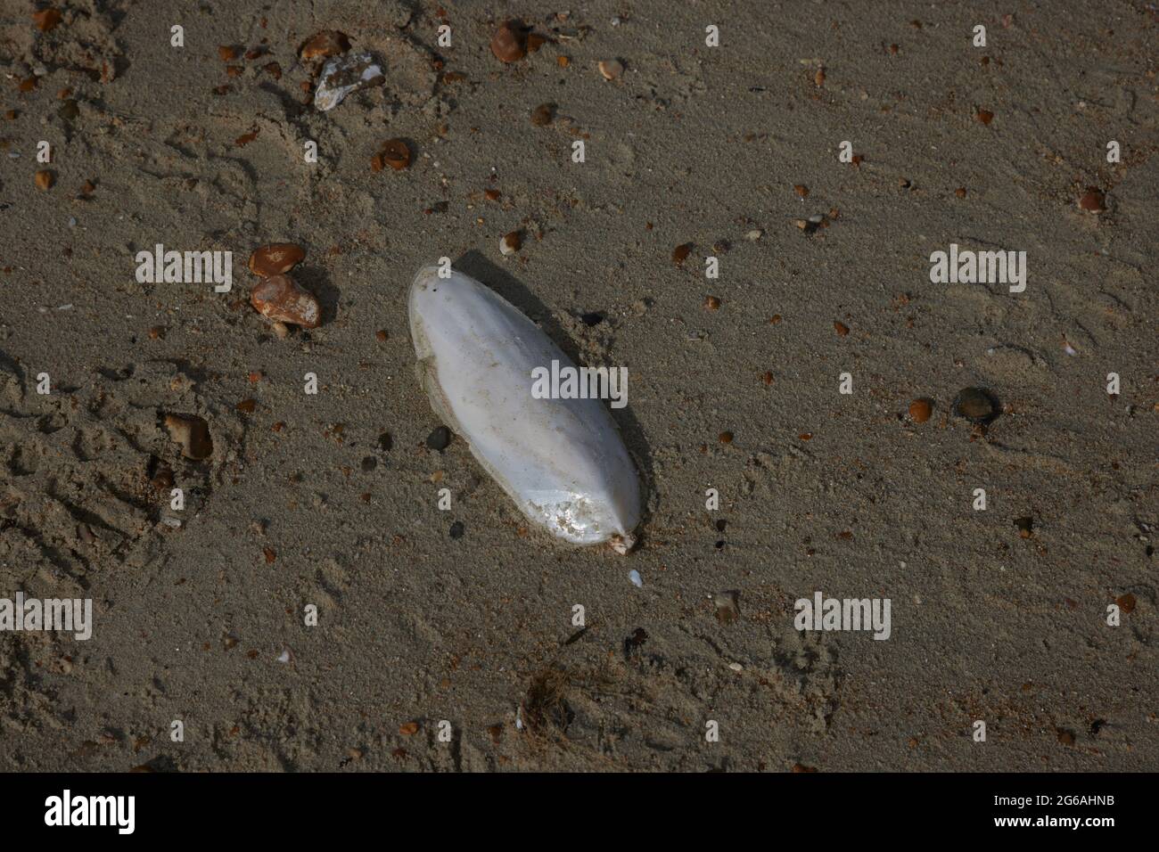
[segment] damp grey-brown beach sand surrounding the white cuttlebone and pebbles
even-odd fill
[[[1159,769],[1154,6],[54,6],[0,12],[0,597],[94,626],[0,632],[0,767]],[[509,17],[542,44],[504,64]],[[385,75],[328,112],[323,30]],[[250,307],[270,242],[318,328]],[[156,243],[232,252],[232,290],[138,283]],[[1026,252],[1025,292],[932,283],[950,243]],[[628,367],[636,552],[428,445],[440,256]],[[888,598],[889,639],[796,629],[817,591]]]

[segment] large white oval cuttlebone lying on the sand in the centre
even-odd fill
[[[575,367],[515,306],[471,276],[423,267],[410,336],[431,408],[530,520],[577,545],[630,549],[640,482],[607,403],[537,399],[532,371]]]

